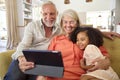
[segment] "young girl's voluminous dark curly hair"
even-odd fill
[[[89,38],[89,44],[93,44],[97,47],[100,47],[103,45],[102,32],[92,27],[77,27],[70,35],[70,39],[73,43],[76,43],[77,34],[79,32],[86,32]]]

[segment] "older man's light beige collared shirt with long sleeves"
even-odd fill
[[[47,50],[51,39],[58,35],[60,31],[59,25],[55,24],[52,29],[52,35],[47,38],[42,21],[29,23],[25,27],[24,37],[19,43],[16,52],[12,55],[12,59],[16,60],[19,56],[23,55],[23,49]]]

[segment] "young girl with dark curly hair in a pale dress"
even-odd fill
[[[120,80],[111,67],[107,70],[88,71],[90,65],[97,65],[94,63],[96,60],[104,59],[107,56],[100,51],[103,49],[103,35],[99,30],[91,27],[77,27],[71,34],[71,40],[84,51],[83,58],[86,66],[82,61],[80,63],[87,73],[82,75],[80,80]]]

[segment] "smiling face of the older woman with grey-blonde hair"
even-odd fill
[[[77,21],[70,16],[64,16],[62,19],[62,28],[66,35],[69,36],[71,32],[77,27]]]

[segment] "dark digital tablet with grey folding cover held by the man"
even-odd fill
[[[26,74],[49,77],[63,77],[64,65],[60,51],[23,50],[27,61],[35,63],[33,69],[26,70]]]

